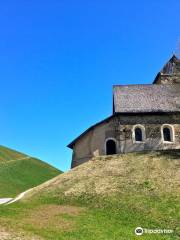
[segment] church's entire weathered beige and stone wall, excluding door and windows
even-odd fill
[[[145,141],[135,143],[133,127],[145,128]],[[175,141],[164,143],[161,133],[163,124],[173,126]],[[180,114],[118,115],[103,122],[82,136],[73,147],[72,167],[88,161],[93,156],[105,155],[106,139],[116,140],[117,153],[144,150],[180,149]]]

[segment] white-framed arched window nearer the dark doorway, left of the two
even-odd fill
[[[143,125],[135,125],[132,129],[132,138],[134,143],[141,143],[145,141],[145,127]]]

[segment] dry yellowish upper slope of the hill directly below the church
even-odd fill
[[[180,151],[102,156],[38,186],[30,195],[180,194]]]

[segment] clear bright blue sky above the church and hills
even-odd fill
[[[0,140],[62,170],[112,113],[112,85],[151,83],[180,38],[179,0],[1,1]]]

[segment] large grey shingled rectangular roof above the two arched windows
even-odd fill
[[[180,112],[180,84],[116,85],[113,113]]]

